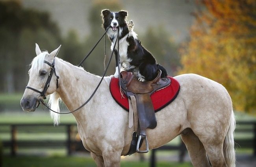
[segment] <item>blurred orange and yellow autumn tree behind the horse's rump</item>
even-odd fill
[[[201,7],[201,9],[200,9]],[[226,87],[236,110],[256,110],[256,2],[202,0],[180,73],[197,73]]]

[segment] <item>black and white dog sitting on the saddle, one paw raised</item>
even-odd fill
[[[147,51],[137,39],[137,34],[133,31],[134,22],[131,20],[126,23],[127,11],[111,12],[108,9],[102,10],[103,27],[112,42],[111,50],[115,49],[117,60],[117,39],[119,28],[119,56],[121,71],[130,71],[139,81],[151,81],[157,76],[157,71],[162,71],[161,77],[166,77],[167,72],[163,66],[156,62],[153,55]],[[118,77],[118,63],[116,62],[115,77]]]

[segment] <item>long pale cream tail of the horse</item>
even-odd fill
[[[223,143],[223,153],[225,157],[226,164],[228,167],[236,167],[236,153],[234,149],[234,130],[236,128],[236,119],[234,117],[234,112],[232,110],[230,124],[226,138]]]

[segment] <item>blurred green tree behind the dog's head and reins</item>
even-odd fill
[[[109,9],[111,11],[120,11],[121,4],[119,4],[118,0],[96,0],[93,3],[89,11],[89,27],[91,29],[91,33],[85,39],[85,53],[88,53],[91,48],[93,48],[94,44],[98,41],[101,35],[104,33],[104,29],[102,28],[102,17],[101,11],[103,9]],[[111,42],[106,36],[106,51],[108,58],[111,55],[110,50]],[[91,56],[83,63],[84,68],[91,73],[96,73],[98,75],[102,75],[104,71],[104,40],[102,40],[98,46],[95,48]],[[113,67],[113,68],[111,68]],[[108,75],[111,75],[115,72],[115,56],[113,56],[112,63],[108,70]]]

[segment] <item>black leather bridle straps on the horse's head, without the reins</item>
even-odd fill
[[[46,99],[46,95],[45,94],[46,94],[47,89],[50,86],[50,81],[52,79],[52,75],[53,74],[56,76],[56,87],[57,87],[57,89],[59,88],[59,76],[56,74],[56,70],[55,70],[55,66],[54,66],[54,64],[55,64],[54,63],[54,59],[53,59],[52,64],[50,62],[48,62],[48,61],[44,61],[44,63],[46,63],[49,66],[51,66],[51,71],[48,74],[48,78],[46,80],[45,87],[44,87],[43,91],[41,92],[41,91],[39,91],[39,90],[37,90],[35,88],[32,88],[30,86],[26,86],[26,88],[31,89],[31,90],[33,90],[35,92],[38,92],[40,94],[40,95],[37,96],[37,99],[39,100],[39,104],[40,104],[41,99]],[[38,106],[39,106],[39,104],[38,104]]]

